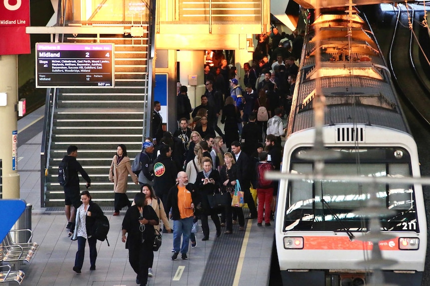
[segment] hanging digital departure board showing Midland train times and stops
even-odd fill
[[[114,87],[114,45],[36,43],[36,88]]]

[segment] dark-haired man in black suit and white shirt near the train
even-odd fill
[[[249,160],[249,157],[245,154],[245,152],[242,152],[239,141],[233,141],[231,143],[231,152],[233,152],[234,161],[236,162],[235,165],[237,166],[237,179],[239,180],[240,187],[244,192],[243,199],[248,204],[249,208],[249,216],[246,218],[257,218],[257,208],[255,207],[251,191],[249,191],[249,188],[251,187],[251,161]]]

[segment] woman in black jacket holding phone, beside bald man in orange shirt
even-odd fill
[[[195,186],[198,187],[201,195],[202,212],[200,219],[202,221],[204,235],[202,240],[205,241],[209,239],[208,215],[211,216],[212,221],[215,223],[216,237],[221,235],[221,223],[219,222],[217,209],[211,208],[208,199],[208,195],[213,195],[215,192],[219,191],[220,180],[218,171],[212,169],[211,158],[205,157],[202,162],[203,171],[197,174]]]

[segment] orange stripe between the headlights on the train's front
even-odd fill
[[[304,236],[303,249],[306,250],[372,250],[373,243],[370,241],[353,240],[348,237],[334,236]],[[380,241],[381,250],[399,250],[399,238]]]

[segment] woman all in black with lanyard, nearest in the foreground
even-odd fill
[[[124,216],[121,240],[126,243],[130,265],[137,274],[136,284],[146,285],[149,263],[154,256],[154,225],[158,225],[160,220],[152,206],[148,205],[144,193],[137,193],[134,202],[136,204]]]

